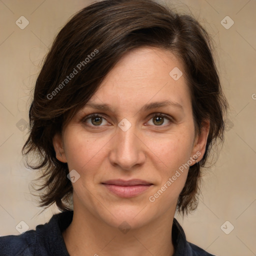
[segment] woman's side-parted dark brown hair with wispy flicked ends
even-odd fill
[[[228,104],[205,29],[190,15],[178,14],[153,0],[95,2],[77,12],[57,34],[35,83],[29,136],[22,148],[24,155],[38,157],[36,164],[27,163],[42,171],[39,180],[43,184],[37,189],[44,189],[40,206],[55,202],[61,211],[72,209],[67,163],[56,159],[52,138],[96,92],[117,61],[141,46],[167,49],[182,61],[196,130],[200,132],[205,119],[210,121],[203,158],[189,167],[177,202],[182,214],[196,208],[201,167],[217,139],[223,141]],[[77,73],[65,80],[74,69]]]

